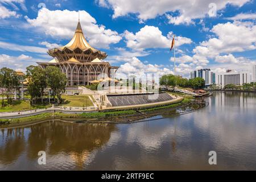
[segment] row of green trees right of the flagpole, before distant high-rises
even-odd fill
[[[203,89],[205,87],[205,80],[200,77],[196,78],[182,78],[181,76],[175,76],[172,74],[163,75],[159,80],[160,85],[171,86],[173,89],[175,86],[180,86],[183,88],[193,88],[193,89]]]

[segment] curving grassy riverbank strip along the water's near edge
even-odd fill
[[[99,111],[96,113],[81,113],[81,114],[64,114],[61,112],[56,113],[43,113],[33,115],[30,117],[15,118],[15,119],[0,119],[0,127],[16,127],[23,125],[30,125],[45,120],[60,119],[64,121],[73,122],[127,122],[135,121],[136,119],[142,119],[147,117],[146,115],[157,114],[160,110],[176,109],[177,107],[188,105],[192,100],[192,97],[185,97],[183,100],[174,104],[159,105],[154,107],[142,107],[136,109],[126,110],[113,110],[113,111]],[[142,117],[143,115],[143,117]]]

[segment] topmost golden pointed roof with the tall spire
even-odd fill
[[[88,48],[92,49],[92,51],[96,50],[92,46],[90,46],[90,44],[86,41],[84,37],[84,33],[82,32],[82,27],[80,22],[77,23],[76,32],[73,38],[71,39],[71,41],[65,46],[60,47],[60,49],[64,49],[64,48],[69,48],[71,50],[80,48],[82,51]]]

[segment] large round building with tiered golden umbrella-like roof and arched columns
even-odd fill
[[[75,35],[68,44],[49,49],[47,53],[53,59],[48,63],[38,64],[43,69],[48,66],[60,68],[68,78],[67,86],[88,85],[91,81],[97,80],[101,73],[110,77],[110,71],[116,72],[119,68],[102,61],[108,55],[90,46],[82,32],[80,21],[77,23]]]

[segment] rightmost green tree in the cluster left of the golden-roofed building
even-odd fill
[[[61,101],[61,93],[65,92],[65,86],[67,85],[67,77],[57,67],[46,68],[46,81],[47,85],[51,87],[53,98],[57,96],[58,103]]]

